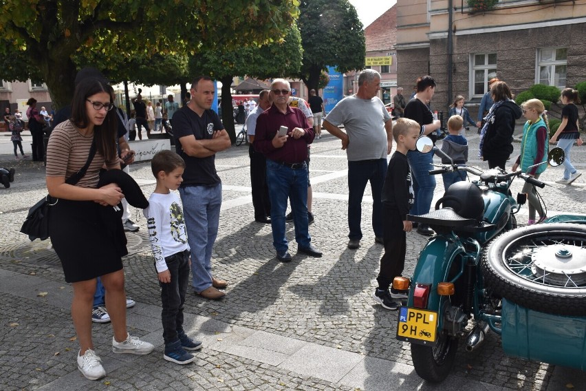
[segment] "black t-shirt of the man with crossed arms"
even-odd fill
[[[188,156],[181,147],[181,138],[184,136],[195,136],[196,140],[212,138],[215,130],[224,129],[219,116],[213,110],[205,110],[200,117],[184,106],[173,114],[173,134],[175,135],[175,149],[183,160],[185,160],[185,171],[183,173],[182,186],[194,184],[217,184],[221,182],[215,165],[215,155],[207,158],[194,158]]]

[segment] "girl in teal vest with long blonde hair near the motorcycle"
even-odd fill
[[[527,122],[523,127],[523,138],[521,138],[521,155],[517,158],[512,166],[512,171],[521,171],[532,176],[535,179],[547,168],[547,137],[550,134],[545,107],[539,99],[530,99],[521,105],[523,116]],[[543,163],[543,164],[542,164]],[[534,165],[539,165],[531,167]],[[531,168],[530,168],[531,167]],[[527,194],[529,204],[529,219],[527,225],[536,223],[535,212],[539,213],[539,221],[545,218],[541,202],[537,198],[537,191],[534,184],[525,182],[521,193]]]

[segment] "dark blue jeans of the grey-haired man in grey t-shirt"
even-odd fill
[[[362,239],[362,196],[370,180],[372,191],[372,228],[374,235],[382,237],[382,184],[387,175],[387,159],[358,160],[348,162],[348,227],[351,240]]]

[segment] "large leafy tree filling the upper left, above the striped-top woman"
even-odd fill
[[[186,56],[280,37],[293,23],[298,5],[298,0],[3,0],[0,65],[24,61],[16,68],[0,68],[0,78],[41,76],[59,107],[70,101],[77,69],[86,65],[76,63],[76,56],[98,62],[92,65],[122,80],[124,67],[113,64],[128,61],[122,64],[127,72],[139,74],[129,67],[132,61],[149,60],[155,67],[155,55],[166,59],[174,54],[166,52],[171,47]],[[87,53],[91,50],[99,50],[102,63]]]

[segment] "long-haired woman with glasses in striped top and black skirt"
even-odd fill
[[[113,352],[146,355],[154,348],[127,333],[122,270],[126,236],[122,211],[113,208],[124,195],[116,184],[98,188],[103,165],[108,170],[120,169],[115,143],[117,118],[112,109],[111,87],[98,78],[85,78],[76,86],[71,117],[55,127],[47,145],[47,190],[56,199],[50,209],[49,233],[65,281],[74,288],[72,318],[80,344],[78,369],[91,380],[105,376],[91,340],[96,277],[101,277],[107,292]],[[85,175],[70,179],[86,165],[92,144],[95,154]]]

